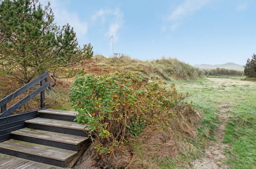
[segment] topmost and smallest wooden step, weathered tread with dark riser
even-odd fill
[[[78,114],[76,111],[66,111],[66,110],[55,110],[55,109],[45,109],[38,111],[38,117],[74,121],[75,116]]]

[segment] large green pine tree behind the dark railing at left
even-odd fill
[[[53,78],[70,77],[78,73],[72,66],[92,55],[90,44],[78,46],[70,25],[56,26],[50,3],[0,0],[0,65],[5,73],[24,83],[47,70]]]

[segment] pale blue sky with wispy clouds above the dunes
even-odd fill
[[[255,0],[48,1],[57,25],[69,23],[94,54],[112,55],[111,35],[115,53],[142,60],[244,65],[256,53]]]

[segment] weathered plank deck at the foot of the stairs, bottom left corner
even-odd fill
[[[61,167],[0,154],[0,169],[61,169]]]

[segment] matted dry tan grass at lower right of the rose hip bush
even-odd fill
[[[179,160],[181,155],[188,157],[191,153],[199,151],[188,142],[190,139],[196,139],[196,123],[199,120],[198,112],[185,108],[172,119],[171,130],[144,130],[140,139],[133,145],[134,155],[127,168],[160,168],[165,159]],[[175,165],[181,166],[182,162]]]

